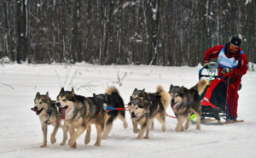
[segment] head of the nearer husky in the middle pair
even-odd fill
[[[131,114],[131,118],[139,118],[143,116],[147,110],[148,100],[135,98],[128,104],[128,109]]]

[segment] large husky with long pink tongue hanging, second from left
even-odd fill
[[[99,103],[99,102],[97,102]],[[57,96],[56,106],[61,112],[61,119],[64,120],[70,133],[68,145],[75,149],[76,140],[87,129],[85,136],[85,144],[90,142],[90,124],[96,125],[97,138],[96,146],[101,146],[102,132],[104,130],[105,111],[102,104],[94,104],[91,99],[81,95],[76,95],[74,90],[65,91],[61,88],[61,92]],[[75,128],[77,130],[75,131]]]

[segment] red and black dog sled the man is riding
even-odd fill
[[[229,77],[222,78],[222,76],[216,75],[218,74],[218,64],[216,62],[210,62],[207,75],[203,75],[204,69],[203,67],[199,71],[199,80],[201,80],[201,77],[206,77],[209,80],[209,84],[200,96],[202,110],[201,122],[218,121],[219,124],[242,122],[243,120],[230,121],[229,97],[227,92],[232,87],[232,80]],[[241,89],[241,85],[239,89]]]

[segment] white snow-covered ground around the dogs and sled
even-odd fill
[[[256,72],[247,71],[242,77],[239,91],[238,119],[242,123],[218,125],[217,122],[195,124],[176,133],[177,120],[166,116],[166,133],[158,121],[148,139],[137,140],[132,132],[131,118],[126,111],[128,128],[122,121],[113,122],[108,139],[96,147],[96,128],[92,126],[90,144],[84,144],[84,135],[77,140],[77,149],[61,146],[62,130],[57,141],[50,144],[53,127],[48,128],[48,145],[43,143],[41,123],[33,107],[37,92],[49,92],[51,99],[65,87],[86,97],[104,93],[115,86],[125,101],[129,102],[134,88],[155,92],[158,84],[168,91],[171,84],[192,87],[198,82],[198,67],[163,67],[146,65],[1,65],[0,67],[0,157],[255,157],[256,156]],[[119,79],[122,79],[119,82]],[[121,86],[120,86],[121,85]],[[166,112],[174,116],[169,107]]]

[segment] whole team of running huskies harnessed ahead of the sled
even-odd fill
[[[159,85],[156,93],[147,93],[145,89],[134,89],[130,97],[128,109],[131,115],[133,133],[138,133],[137,139],[148,138],[149,128],[154,128],[154,118],[160,121],[162,131],[166,132],[166,109],[171,104],[172,110],[177,117],[177,132],[189,128],[189,116],[192,112],[197,118],[196,129],[201,129],[201,100],[199,93],[208,84],[207,79],[202,79],[190,89],[171,85],[169,92]],[[95,94],[93,97],[84,97],[75,94],[74,90],[65,91],[61,88],[56,100],[37,93],[32,108],[39,116],[42,124],[44,141],[41,147],[47,145],[47,127],[52,125],[53,132],[50,135],[50,142],[54,144],[55,134],[58,128],[63,130],[61,145],[67,142],[67,132],[70,138],[68,145],[75,149],[76,140],[86,130],[84,144],[90,143],[90,125],[96,126],[96,146],[101,146],[101,139],[108,138],[113,126],[113,121],[119,118],[123,121],[123,127],[127,128],[125,121],[125,104],[116,87],[108,87],[106,93]],[[61,120],[64,124],[61,125]],[[183,122],[186,121],[184,127]],[[138,128],[137,125],[140,125]]]

